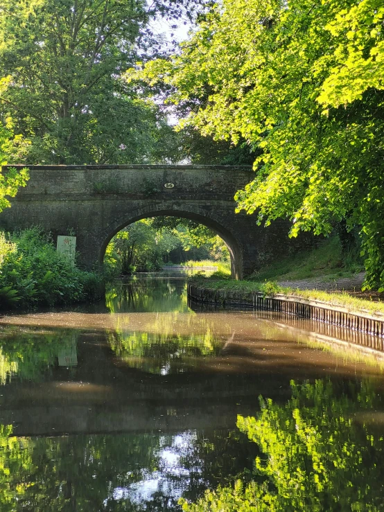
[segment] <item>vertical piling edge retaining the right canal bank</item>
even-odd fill
[[[239,290],[212,290],[193,283],[188,284],[188,297],[192,301],[217,306],[238,306],[254,310],[283,312],[299,318],[313,319],[326,324],[342,326],[361,333],[384,337],[384,315],[372,315],[368,311],[350,310],[343,306],[315,299],[304,299],[295,294]]]

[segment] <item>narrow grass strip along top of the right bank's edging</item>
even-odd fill
[[[323,301],[333,306],[341,306],[349,311],[369,312],[371,315],[384,315],[384,302],[369,301],[351,297],[347,292],[328,293],[321,290],[299,290],[297,288],[284,288],[274,281],[233,281],[228,279],[207,278],[204,276],[193,276],[189,283],[204,288],[204,290],[213,290],[220,292],[225,297],[226,294],[236,293],[237,297],[244,298],[252,292],[261,292],[265,296],[273,297],[276,294],[285,294],[302,299]]]

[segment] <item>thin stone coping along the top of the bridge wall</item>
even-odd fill
[[[121,164],[121,165],[109,165],[109,166],[98,166],[98,165],[71,165],[71,166],[35,166],[28,164],[8,164],[6,166],[2,166],[3,169],[8,168],[17,168],[23,169],[28,168],[30,170],[116,170],[116,169],[152,169],[152,170],[167,170],[167,169],[175,169],[175,170],[207,170],[207,169],[217,169],[217,170],[252,170],[252,166],[206,166],[206,165],[196,165],[196,164],[179,164],[179,165],[171,165],[171,164]]]

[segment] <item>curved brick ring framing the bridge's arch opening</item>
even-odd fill
[[[191,220],[195,224],[200,224],[204,227],[209,228],[213,233],[218,235],[223,242],[225,242],[225,245],[227,246],[228,252],[229,252],[229,258],[231,263],[231,277],[232,279],[241,279],[242,276],[242,262],[241,262],[241,250],[238,245],[238,242],[233,235],[227,228],[222,226],[219,222],[216,222],[216,220],[213,220],[209,217],[205,217],[204,215],[201,215],[199,213],[193,213],[189,211],[182,211],[182,210],[153,210],[153,211],[146,211],[145,213],[138,213],[137,215],[132,216],[128,220],[119,220],[114,224],[114,226],[111,226],[108,230],[105,236],[105,240],[103,241],[103,244],[101,245],[101,250],[99,254],[99,264],[103,265],[105,251],[107,250],[107,246],[109,245],[110,241],[114,236],[116,236],[117,233],[125,229],[126,227],[134,224],[135,222],[143,219],[149,219],[149,218],[159,218],[159,217],[166,217],[166,218],[180,218],[180,219],[186,219]]]

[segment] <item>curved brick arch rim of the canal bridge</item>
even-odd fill
[[[198,209],[200,210],[200,209]],[[164,206],[160,207],[145,207],[143,209],[138,209],[137,211],[131,212],[129,215],[124,215],[121,218],[118,218],[112,222],[108,228],[107,235],[104,237],[103,242],[101,243],[100,252],[98,254],[98,263],[99,265],[103,265],[103,259],[105,256],[105,251],[107,249],[107,245],[110,243],[112,238],[119,233],[122,229],[137,222],[138,220],[142,220],[145,218],[151,217],[178,217],[193,220],[197,224],[203,224],[211,229],[214,233],[216,233],[224,242],[226,243],[229,256],[231,258],[231,276],[232,279],[241,279],[242,277],[242,269],[243,269],[243,261],[241,254],[241,247],[236,240],[236,236],[230,229],[222,225],[222,223],[218,222],[214,218],[211,218],[211,215],[207,215],[207,212],[197,211],[197,209],[193,209],[190,211],[189,209],[185,209],[185,207],[176,206],[173,208],[166,208]]]

